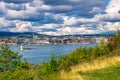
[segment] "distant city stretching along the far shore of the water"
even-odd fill
[[[8,34],[10,35],[10,34]],[[49,44],[90,44],[100,43],[101,40],[107,42],[110,36],[105,35],[66,35],[48,36],[37,33],[24,33],[19,35],[4,36],[0,38],[0,45],[49,45]]]

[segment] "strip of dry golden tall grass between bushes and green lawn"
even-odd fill
[[[90,62],[72,66],[70,72],[62,70],[59,76],[61,80],[83,80],[83,74],[85,72],[104,69],[119,63],[120,56],[98,58]]]

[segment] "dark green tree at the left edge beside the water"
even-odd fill
[[[2,45],[0,49],[0,70],[14,70],[21,62],[21,55],[10,50],[8,45]]]

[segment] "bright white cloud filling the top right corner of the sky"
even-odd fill
[[[111,0],[109,5],[106,7],[106,14],[96,15],[95,18],[99,21],[120,21],[120,0]]]

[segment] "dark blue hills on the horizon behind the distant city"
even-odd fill
[[[64,36],[112,36],[115,35],[115,31],[109,31],[109,32],[104,32],[100,34],[76,34],[76,35],[63,35]],[[44,35],[44,34],[39,34],[34,32],[34,35],[37,35],[39,37],[42,36],[47,36],[47,37],[52,37],[50,35]],[[0,37],[6,38],[6,37],[19,37],[19,38],[31,38],[33,37],[33,32],[0,32]]]

